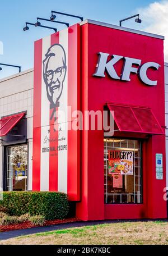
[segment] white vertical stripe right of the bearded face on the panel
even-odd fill
[[[58,140],[58,147],[68,144],[68,29],[64,29],[59,32],[59,44],[62,45],[66,52],[66,65],[67,73],[63,82],[63,92],[59,100],[58,108],[58,122],[62,131],[59,131],[59,138],[65,138],[65,140]],[[67,145],[68,147],[68,145]],[[58,191],[67,193],[67,155],[68,150],[58,150]]]

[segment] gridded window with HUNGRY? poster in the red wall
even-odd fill
[[[106,204],[142,203],[141,141],[104,139]]]

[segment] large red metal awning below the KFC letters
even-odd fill
[[[120,131],[146,134],[164,134],[150,108],[108,103],[114,111],[114,121]]]

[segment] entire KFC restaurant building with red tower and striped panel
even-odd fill
[[[166,218],[167,66],[163,36],[92,20],[35,42],[34,70],[0,81],[3,190],[62,191],[85,221]],[[113,135],[72,129],[76,111],[108,111]]]

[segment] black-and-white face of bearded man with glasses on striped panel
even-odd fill
[[[60,44],[54,44],[48,49],[45,54],[45,60],[43,60],[43,79],[50,108],[56,109],[56,107],[59,107],[59,99],[63,91],[66,72],[66,53],[64,48]]]

